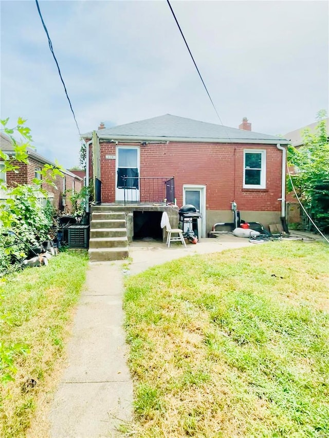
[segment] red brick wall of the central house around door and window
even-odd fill
[[[100,146],[102,202],[114,202],[116,162],[105,155],[116,155],[116,146]],[[207,210],[229,210],[235,200],[241,211],[280,211],[282,152],[275,145],[170,142],[136,146],[140,147],[140,176],[174,176],[179,206],[183,184],[199,184],[207,186]],[[248,148],[266,149],[266,189],[243,188],[243,151]]]

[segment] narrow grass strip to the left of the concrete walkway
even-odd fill
[[[0,382],[0,436],[25,436],[38,397],[51,389],[86,269],[85,254],[66,252],[1,280],[0,378],[14,381]]]

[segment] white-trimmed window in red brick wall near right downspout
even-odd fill
[[[245,149],[243,187],[266,188],[266,150]]]

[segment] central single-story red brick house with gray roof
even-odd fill
[[[173,176],[177,204],[192,203],[203,214],[204,237],[214,223],[232,222],[233,201],[245,221],[268,225],[285,216],[288,141],[252,132],[246,118],[240,129],[172,115],[100,128],[96,148],[92,133],[83,137],[89,177],[94,168],[102,182],[102,203],[122,202],[119,176],[128,169],[140,184],[143,178]],[[135,192],[143,202],[142,187]]]

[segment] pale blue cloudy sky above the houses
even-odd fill
[[[170,113],[219,123],[167,2],[40,1],[81,132]],[[328,108],[328,3],[171,2],[224,125],[284,134]],[[34,1],[1,1],[1,118],[64,167],[79,136]]]

